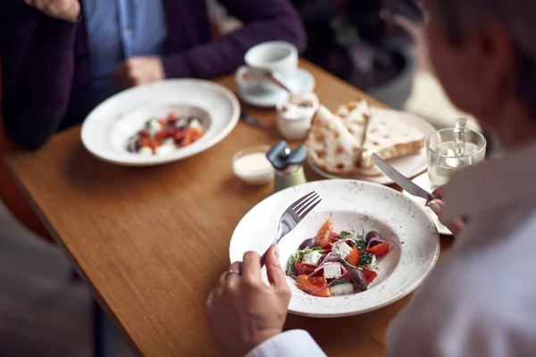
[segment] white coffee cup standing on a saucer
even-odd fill
[[[264,42],[251,47],[244,56],[251,67],[278,72],[284,79],[294,79],[297,73],[297,48],[284,41]]]

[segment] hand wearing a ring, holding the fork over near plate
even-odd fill
[[[290,289],[281,270],[277,247],[266,255],[270,286],[261,278],[257,253],[247,252],[222,274],[206,300],[206,319],[218,342],[230,355],[244,356],[256,345],[281,334]]]

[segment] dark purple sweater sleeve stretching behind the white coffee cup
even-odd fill
[[[244,27],[205,45],[163,58],[167,78],[210,79],[235,71],[244,54],[258,43],[288,41],[300,50],[306,46],[303,24],[289,0],[220,0]]]

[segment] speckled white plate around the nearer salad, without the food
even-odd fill
[[[389,187],[343,179],[290,187],[255,205],[240,220],[230,239],[230,262],[241,261],[247,251],[264,253],[272,243],[281,213],[311,191],[322,197],[322,203],[281,240],[283,270],[287,268],[289,255],[306,238],[314,237],[330,216],[335,230],[376,230],[389,240],[391,249],[378,262],[378,278],[363,293],[316,297],[299,290],[296,282],[287,277],[292,292],[290,312],[333,318],[373,311],[414,291],[431,272],[440,253],[440,240],[423,207]],[[265,269],[262,276],[267,281]]]

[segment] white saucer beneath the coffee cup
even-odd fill
[[[297,69],[297,75],[294,79],[288,81],[289,87],[297,95],[311,93],[314,89],[315,81],[311,72],[302,68]],[[287,92],[281,87],[270,85],[269,87],[257,86],[239,86],[239,98],[246,104],[272,108],[276,104],[285,100]]]

